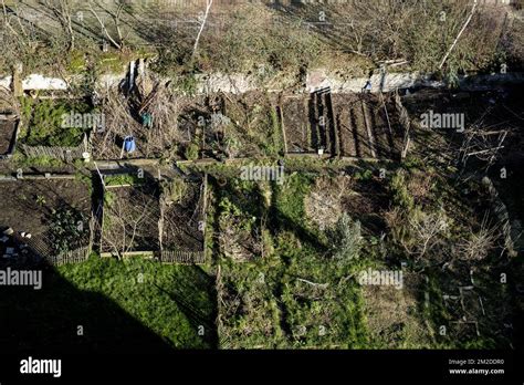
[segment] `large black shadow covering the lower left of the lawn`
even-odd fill
[[[172,351],[171,345],[112,299],[78,290],[53,267],[39,269],[42,269],[41,290],[0,287],[2,352],[49,355]],[[78,335],[81,327],[83,335]]]

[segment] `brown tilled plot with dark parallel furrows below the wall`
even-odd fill
[[[286,153],[331,157],[399,159],[406,129],[392,95],[332,94],[284,96]]]

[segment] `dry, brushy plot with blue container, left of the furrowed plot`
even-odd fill
[[[184,96],[144,75],[127,94],[103,95],[105,126],[93,135],[93,153],[106,159],[275,156],[275,98],[263,92]]]

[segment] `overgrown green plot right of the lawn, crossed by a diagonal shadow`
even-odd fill
[[[360,250],[373,246],[361,239],[360,223],[342,214],[350,179],[293,174],[279,186],[219,178],[214,220],[224,233],[217,244],[222,347],[366,344],[364,308],[352,271],[361,267]],[[326,192],[328,184],[336,191]],[[234,215],[239,211],[244,214]],[[226,228],[231,216],[234,221]],[[342,250],[339,242],[350,244]],[[352,298],[350,304],[343,298]]]

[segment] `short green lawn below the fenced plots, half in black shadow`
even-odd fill
[[[213,281],[199,268],[93,257],[43,277],[40,291],[1,289],[2,347],[161,353],[214,344]]]

